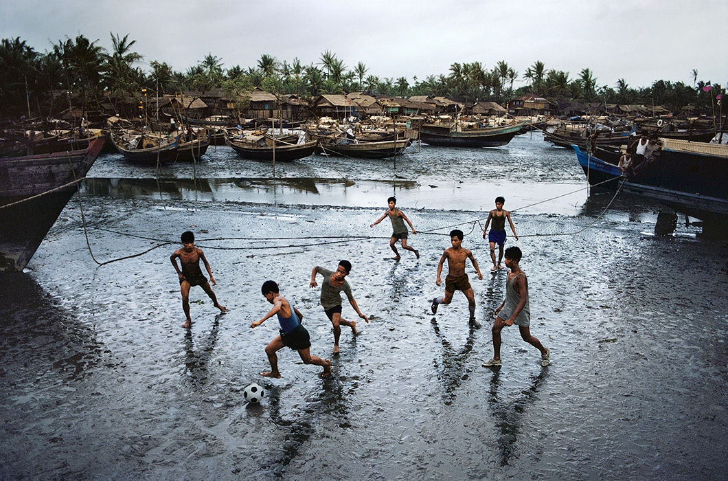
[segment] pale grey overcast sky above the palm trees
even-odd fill
[[[329,50],[348,69],[378,77],[448,74],[452,63],[505,60],[523,73],[545,68],[597,85],[648,87],[656,79],[728,83],[727,0],[111,1],[0,0],[0,38],[38,52],[82,34],[110,48],[111,33],[135,40],[140,66],[186,71],[208,53],[223,68],[256,66],[262,54],[319,63]]]

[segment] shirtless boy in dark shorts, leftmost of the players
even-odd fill
[[[177,276],[180,279],[180,291],[182,293],[182,310],[186,316],[186,321],[182,324],[182,327],[188,329],[192,325],[192,318],[189,316],[189,289],[192,286],[201,286],[202,289],[210,296],[213,300],[213,305],[218,308],[221,313],[226,313],[227,308],[224,305],[218,303],[218,298],[215,297],[213,289],[210,287],[210,282],[213,286],[216,285],[215,278],[213,278],[213,271],[210,269],[210,262],[207,262],[205,253],[202,249],[194,246],[194,234],[189,230],[182,233],[181,236],[182,245],[181,249],[177,249],[170,256],[172,265],[175,266]],[[182,270],[177,265],[177,258],[180,258],[180,264]],[[207,282],[207,278],[202,274],[202,270],[199,268],[199,261],[205,264],[207,274],[210,275],[210,282]]]

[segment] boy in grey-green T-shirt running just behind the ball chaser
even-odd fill
[[[323,283],[321,284],[321,305],[323,306],[328,320],[333,325],[333,353],[339,353],[339,337],[341,337],[341,325],[349,326],[352,328],[352,334],[357,335],[357,321],[347,321],[341,317],[341,292],[347,294],[349,304],[352,305],[360,318],[363,318],[367,323],[369,318],[365,316],[359,310],[357,301],[354,299],[352,294],[352,288],[349,287],[349,283],[344,279],[349,275],[352,270],[352,263],[347,260],[339,262],[339,266],[336,267],[335,271],[324,269],[323,267],[316,266],[311,272],[311,283],[310,287],[316,287],[316,274],[323,275]]]

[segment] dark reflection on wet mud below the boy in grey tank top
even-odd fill
[[[518,445],[518,434],[521,434],[523,418],[526,410],[534,403],[537,394],[543,388],[548,373],[544,367],[539,375],[531,378],[531,385],[511,398],[512,394],[498,394],[502,390],[500,369],[494,369],[488,390],[488,407],[496,418],[496,428],[500,431],[498,447],[501,450],[501,466],[507,466],[510,458],[515,454]]]

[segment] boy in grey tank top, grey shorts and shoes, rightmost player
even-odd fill
[[[521,261],[521,249],[509,247],[505,250],[505,265],[508,267],[508,280],[505,285],[505,299],[495,310],[496,321],[493,324],[493,359],[483,362],[484,367],[501,365],[500,332],[505,326],[518,325],[518,331],[526,343],[541,351],[541,365],[548,366],[551,352],[545,348],[537,337],[531,335],[531,310],[529,308],[529,281],[526,273],[518,266]]]

